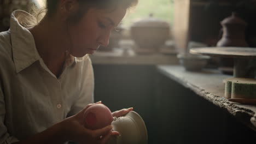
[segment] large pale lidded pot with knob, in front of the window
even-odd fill
[[[158,52],[170,35],[170,26],[166,21],[153,17],[139,20],[131,26],[131,37],[136,43],[136,52]]]

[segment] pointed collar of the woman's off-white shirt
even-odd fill
[[[11,45],[16,73],[19,73],[38,60],[42,61],[36,49],[33,35],[19,23],[19,20],[27,19],[30,16],[32,15],[22,10],[15,10],[10,16],[9,31],[11,33]],[[72,55],[67,56],[65,66],[69,67],[74,63],[76,63],[76,58]]]

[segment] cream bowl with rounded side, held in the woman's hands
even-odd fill
[[[148,134],[146,125],[135,111],[130,111],[124,117],[116,118],[112,122],[113,130],[120,136],[113,136],[108,144],[146,144]]]

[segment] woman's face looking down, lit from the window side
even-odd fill
[[[110,12],[106,9],[89,9],[79,22],[68,29],[72,41],[71,55],[83,57],[87,53],[94,53],[101,45],[107,46],[110,32],[118,26],[125,13],[124,8]]]

